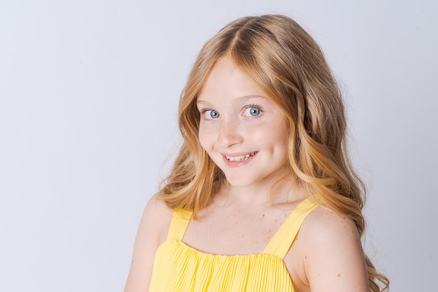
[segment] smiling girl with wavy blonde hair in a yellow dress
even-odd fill
[[[288,17],[231,22],[179,106],[184,144],[144,211],[125,292],[381,291],[330,68]]]

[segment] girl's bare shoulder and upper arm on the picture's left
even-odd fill
[[[150,198],[137,231],[125,292],[148,291],[155,252],[166,240],[171,216],[172,211],[157,199],[157,195]]]

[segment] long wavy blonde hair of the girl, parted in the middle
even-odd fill
[[[209,202],[225,175],[198,140],[197,95],[218,59],[234,62],[285,113],[288,119],[290,172],[315,194],[318,203],[353,219],[365,230],[365,187],[346,153],[346,116],[341,92],[318,44],[283,15],[243,17],[208,41],[195,61],[181,95],[178,122],[183,145],[160,197],[171,208],[193,210]],[[365,255],[369,286],[388,290],[388,279]]]

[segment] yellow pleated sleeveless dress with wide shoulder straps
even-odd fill
[[[157,249],[150,292],[294,291],[283,261],[302,221],[317,205],[303,200],[262,254],[224,256],[198,251],[182,240],[192,212],[176,210],[167,240]]]

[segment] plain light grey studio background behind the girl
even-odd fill
[[[392,291],[435,291],[432,0],[1,1],[0,291],[122,291],[197,52],[263,13],[308,29],[341,82],[369,256]]]

